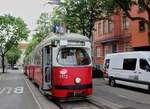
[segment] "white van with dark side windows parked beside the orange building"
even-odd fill
[[[107,54],[104,76],[109,85],[116,83],[148,89],[150,92],[150,52],[125,52]]]

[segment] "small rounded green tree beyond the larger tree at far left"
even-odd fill
[[[18,46],[13,46],[7,53],[6,53],[6,59],[11,66],[16,64],[18,59],[21,56],[21,50],[18,48]]]

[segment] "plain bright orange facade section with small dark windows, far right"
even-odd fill
[[[142,6],[133,5],[132,16],[139,16],[148,18],[145,9]],[[149,41],[148,41],[148,31],[147,25],[144,21],[132,21],[131,22],[131,35],[132,35],[132,48],[134,51],[150,51]]]

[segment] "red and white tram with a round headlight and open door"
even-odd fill
[[[25,73],[42,90],[50,91],[52,97],[92,94],[91,43],[87,37],[51,33],[37,45],[31,56]]]

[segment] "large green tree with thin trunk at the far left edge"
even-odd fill
[[[2,72],[6,53],[12,46],[17,46],[19,41],[28,37],[29,30],[21,18],[11,15],[0,16],[0,56],[2,58]]]

